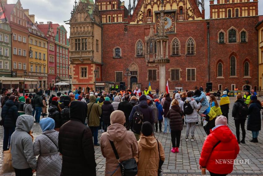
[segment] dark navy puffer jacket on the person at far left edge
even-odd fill
[[[18,111],[14,101],[6,101],[2,108],[1,117],[4,119],[4,127],[15,127]]]

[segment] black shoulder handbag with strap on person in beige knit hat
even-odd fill
[[[125,160],[123,162],[120,162],[119,155],[118,155],[117,150],[116,150],[114,143],[112,141],[110,141],[110,145],[114,151],[116,159],[119,162],[119,166],[121,169],[122,176],[135,176],[135,175],[137,175],[138,168],[137,168],[136,160],[134,158],[131,158],[131,159]]]

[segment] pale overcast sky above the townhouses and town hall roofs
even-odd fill
[[[124,1],[125,6],[128,8],[129,0]],[[263,15],[263,0],[258,1],[259,15]],[[16,3],[17,0],[7,0],[7,2],[11,4]],[[29,9],[30,15],[35,15],[35,21],[38,23],[44,22],[46,24],[47,21],[52,21],[64,25],[69,37],[69,25],[66,25],[63,21],[70,19],[70,12],[73,9],[75,0],[20,0],[20,2],[24,9]],[[133,0],[131,0],[132,2]],[[209,18],[209,0],[205,0],[205,18]]]

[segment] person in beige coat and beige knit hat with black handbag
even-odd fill
[[[110,115],[111,125],[108,127],[107,132],[101,135],[101,153],[106,158],[105,176],[121,176],[120,167],[110,141],[114,142],[120,162],[131,159],[138,153],[136,138],[133,132],[127,131],[123,126],[124,123],[125,115],[123,111],[113,111]]]

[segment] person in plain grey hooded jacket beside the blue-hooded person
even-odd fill
[[[16,129],[10,141],[12,165],[16,176],[32,176],[37,169],[33,138],[29,134],[33,123],[34,118],[31,115],[20,115],[16,120]]]

